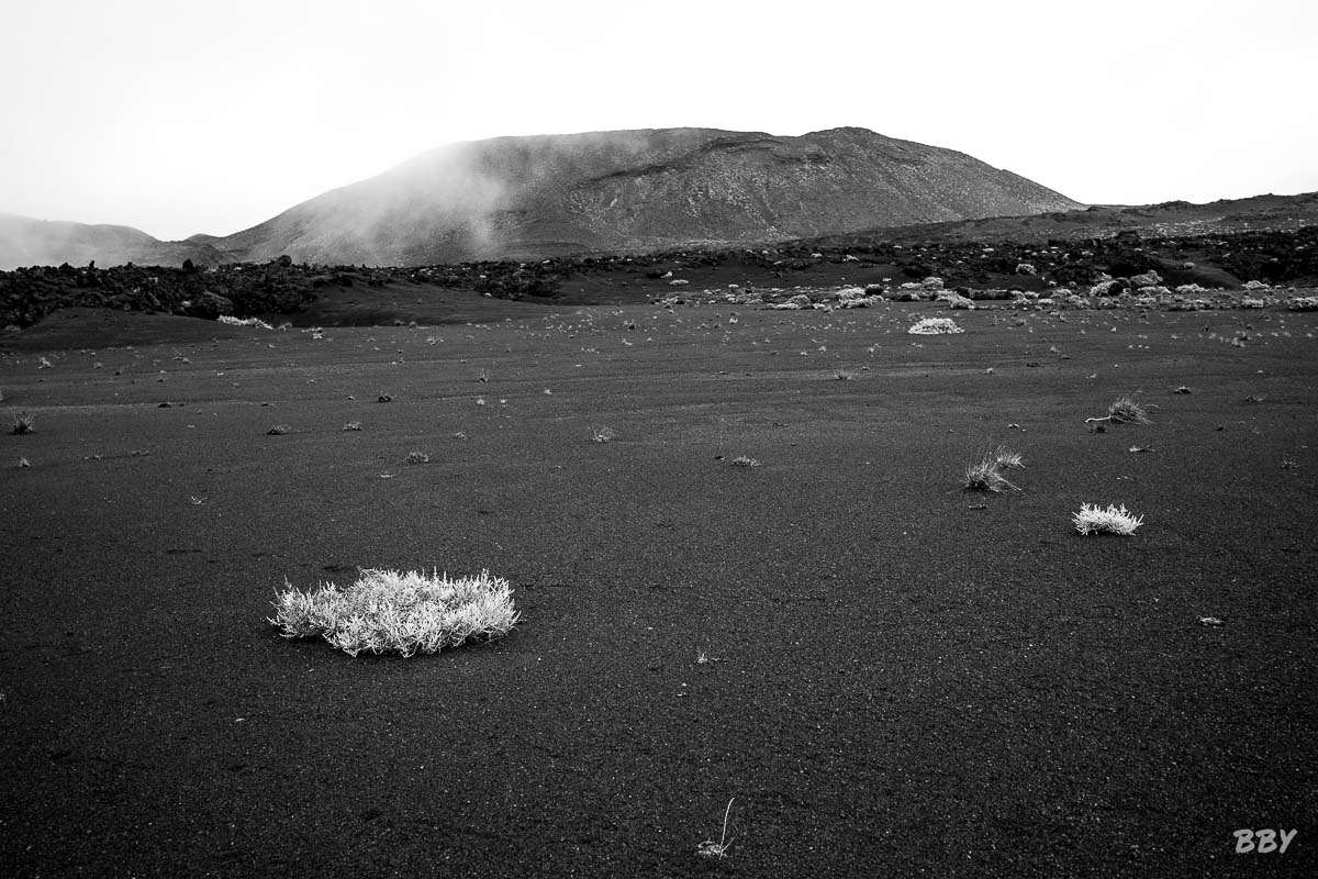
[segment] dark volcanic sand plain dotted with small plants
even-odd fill
[[[7,343],[0,874],[1318,866],[1318,316],[518,314]],[[1153,423],[1089,432],[1123,394]],[[999,444],[1023,490],[957,490]],[[489,568],[523,621],[407,660],[266,622],[358,567]]]

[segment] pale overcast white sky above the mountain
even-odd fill
[[[443,144],[869,128],[1085,203],[1318,191],[1314,0],[0,3],[0,212],[229,235]]]

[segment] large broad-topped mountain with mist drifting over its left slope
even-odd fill
[[[206,242],[232,260],[424,265],[1075,207],[963,153],[859,128],[801,137],[679,128],[453,144]]]

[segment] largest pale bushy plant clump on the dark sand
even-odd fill
[[[501,638],[519,619],[507,580],[489,571],[449,580],[419,571],[368,569],[347,589],[332,582],[315,592],[290,586],[275,593],[273,604],[270,623],[285,638],[320,635],[352,656],[435,654]]]

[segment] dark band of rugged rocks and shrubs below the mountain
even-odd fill
[[[899,287],[928,277],[941,278],[948,290],[971,299],[994,298],[1004,290],[1046,294],[1074,287],[1079,293],[1108,278],[1118,282],[1104,295],[1116,297],[1141,286],[1123,279],[1148,271],[1168,289],[1239,290],[1247,282],[1318,285],[1318,227],[1151,239],[1123,232],[1043,242],[912,241],[909,236],[904,241],[850,236],[846,246],[816,240],[418,268],[308,265],[287,256],[264,264],[187,264],[178,269],[65,264],[0,273],[0,326],[26,327],[71,306],[206,319],[297,315],[320,298],[349,291],[369,304],[373,297],[384,298],[386,286],[418,294],[438,287],[498,299],[590,304],[652,300],[685,285]]]

